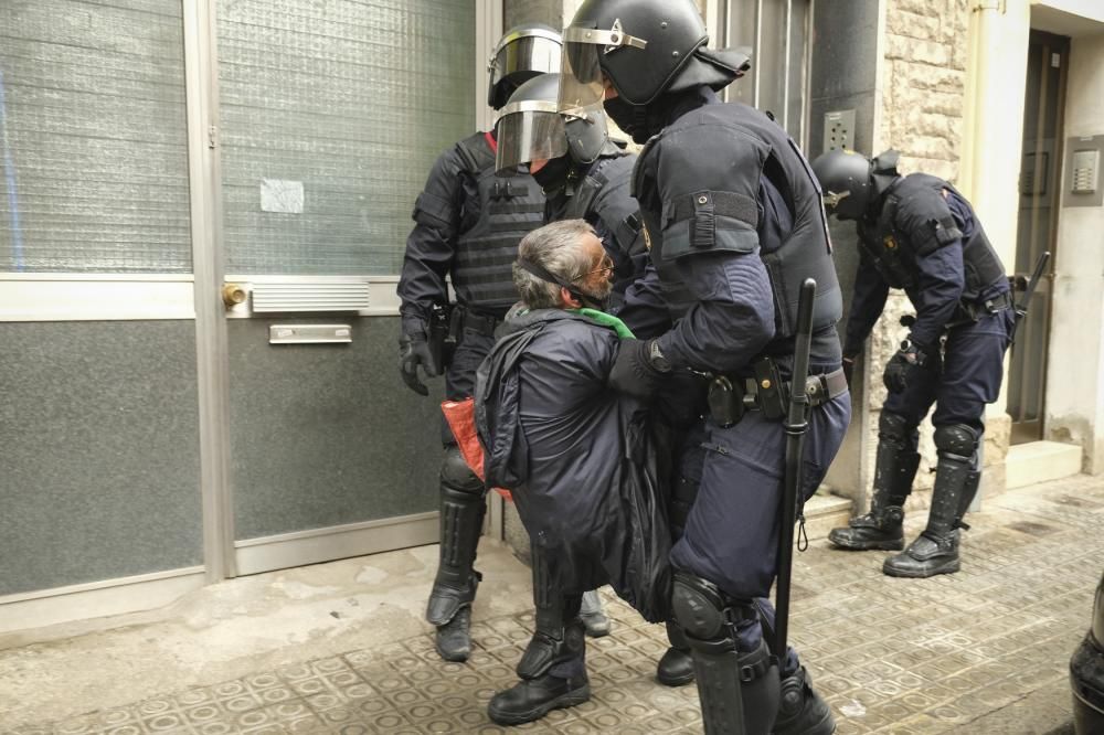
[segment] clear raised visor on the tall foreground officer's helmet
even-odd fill
[[[648,42],[622,30],[615,20],[609,30],[569,25],[563,32],[563,68],[560,73],[560,111],[580,114],[580,110],[601,105],[605,98],[602,74],[603,54],[622,46],[644,49]]]

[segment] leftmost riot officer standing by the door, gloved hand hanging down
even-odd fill
[[[560,34],[540,23],[508,31],[491,53],[488,105],[499,109],[520,84],[556,71],[560,49]],[[471,395],[476,368],[495,342],[495,328],[517,300],[511,265],[518,243],[543,222],[544,196],[531,178],[495,177],[497,145],[492,132],[477,132],[446,150],[414,204],[415,226],[399,281],[400,370],[406,385],[421,395],[428,391],[420,366],[428,376],[445,372],[448,398]],[[456,295],[450,318],[446,276]],[[440,342],[448,324],[456,326],[459,339],[445,365]],[[471,603],[480,579],[474,564],[486,498],[444,422],[442,441],[440,556],[426,619],[437,627],[442,658],[464,661],[471,651]],[[595,632],[608,629],[601,607],[587,620]]]

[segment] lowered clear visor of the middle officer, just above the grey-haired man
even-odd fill
[[[567,152],[563,117],[551,102],[510,103],[495,124],[495,169],[499,175],[513,175],[523,163],[552,160]]]

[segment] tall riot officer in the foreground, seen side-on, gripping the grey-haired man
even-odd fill
[[[651,266],[619,313],[635,332],[671,324],[624,342],[608,382],[654,395],[687,371],[713,376],[703,456],[683,460],[698,494],[671,552],[671,607],[690,643],[705,732],[830,733],[831,712],[796,653],[768,650],[763,625],[773,622],[765,597],[784,484],[779,404],[793,380],[815,395],[807,496],[850,417],[836,334],[842,301],[808,164],[767,116],[720,103],[715,90],[747,57],[707,41],[691,0],[587,0],[564,31],[561,110],[605,99],[614,121],[647,142],[634,194]],[[810,277],[811,374],[795,376],[797,295]]]

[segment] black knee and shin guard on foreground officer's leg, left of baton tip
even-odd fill
[[[683,572],[675,575],[671,606],[690,642],[707,735],[769,733],[779,703],[777,660],[762,639],[754,651],[736,642],[736,624],[757,619],[755,608]]]

